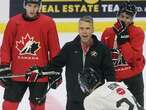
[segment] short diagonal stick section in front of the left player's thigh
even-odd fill
[[[35,100],[38,102],[38,104],[40,104],[45,98],[46,98],[46,95],[47,93],[49,92],[49,90],[51,89],[51,87],[53,86],[53,84],[56,83],[56,81],[60,80],[62,78],[62,76],[58,77],[56,80],[54,80],[50,85],[49,85],[49,88],[46,90],[45,94],[43,95],[43,97],[39,98],[39,97],[36,97]]]

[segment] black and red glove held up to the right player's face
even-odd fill
[[[113,30],[117,35],[118,45],[122,45],[130,40],[128,35],[128,29],[123,21],[118,20],[114,24]]]

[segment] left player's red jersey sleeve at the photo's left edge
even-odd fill
[[[10,64],[13,38],[15,37],[16,23],[10,20],[4,31],[1,53],[1,64]]]

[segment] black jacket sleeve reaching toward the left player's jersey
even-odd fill
[[[65,44],[58,55],[43,68],[43,71],[57,71],[66,65],[68,44]]]

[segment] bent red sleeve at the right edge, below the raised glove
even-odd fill
[[[137,61],[143,60],[143,43],[144,31],[137,28],[132,32],[130,42],[120,46],[122,55],[129,65],[136,66]]]

